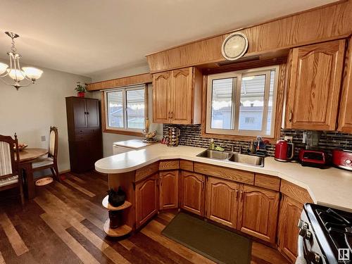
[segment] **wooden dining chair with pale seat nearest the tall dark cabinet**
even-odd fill
[[[50,169],[54,178],[61,182],[60,175],[58,173],[58,128],[50,127],[50,141],[48,156],[44,158],[38,158],[32,162],[32,168],[30,172],[33,173],[38,170]]]

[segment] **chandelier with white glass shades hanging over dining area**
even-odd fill
[[[12,39],[11,51],[7,53],[10,57],[10,66],[0,62],[0,80],[5,84],[12,85],[15,89],[27,87],[42,76],[43,71],[33,67],[20,67],[20,54],[16,53],[15,38],[20,37],[13,32],[5,32]],[[6,78],[11,82],[6,82]],[[12,80],[11,80],[12,79]],[[22,81],[25,80],[25,83]]]

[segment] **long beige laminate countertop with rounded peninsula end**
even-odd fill
[[[99,172],[115,174],[137,170],[156,161],[182,158],[239,170],[247,170],[277,176],[307,189],[315,203],[352,212],[352,172],[337,168],[321,170],[302,167],[298,163],[280,163],[272,157],[265,158],[264,167],[217,161],[197,157],[205,149],[194,146],[170,148],[163,144],[154,144],[146,149],[129,151],[96,161]]]

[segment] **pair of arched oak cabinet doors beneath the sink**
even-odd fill
[[[279,192],[208,177],[206,217],[275,243]]]

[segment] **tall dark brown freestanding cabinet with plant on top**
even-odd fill
[[[99,100],[66,97],[66,113],[71,171],[93,170],[103,158]]]

